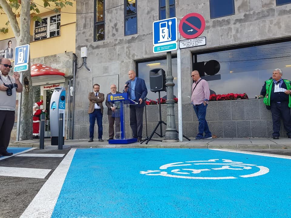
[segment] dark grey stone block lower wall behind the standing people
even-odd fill
[[[105,105],[105,104],[104,104]],[[178,104],[175,105],[176,128],[178,129]],[[89,115],[88,110],[75,111],[74,139],[89,139]],[[166,104],[161,105],[162,121],[167,121]],[[103,138],[108,135],[107,108],[104,108]],[[159,106],[147,105],[147,129],[148,136],[152,133],[159,121]],[[125,108],[125,116],[129,117]],[[143,137],[146,137],[145,111],[143,115]],[[182,104],[183,134],[187,137],[195,137],[198,131],[198,120],[190,103]],[[207,107],[206,120],[213,135],[221,138],[245,138],[245,137],[272,137],[273,123],[271,111],[266,109],[262,99],[210,101]],[[125,122],[126,137],[131,137],[129,119]],[[162,125],[162,133],[165,134],[166,125]],[[95,124],[97,137],[97,124]],[[160,127],[156,130],[160,134]],[[287,137],[281,124],[281,137]],[[158,136],[154,134],[154,138]]]

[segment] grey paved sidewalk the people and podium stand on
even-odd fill
[[[183,142],[159,142],[151,140],[148,144],[146,141],[140,144],[135,142],[131,144],[108,144],[99,142],[98,139],[94,142],[88,140],[65,140],[63,149],[66,148],[225,148],[225,149],[291,149],[291,140],[288,138],[215,138],[191,141],[183,139]],[[162,140],[162,138],[156,138]],[[45,139],[45,149],[57,149],[58,146],[52,146],[50,139]],[[23,140],[11,142],[10,147],[39,147],[39,140]]]

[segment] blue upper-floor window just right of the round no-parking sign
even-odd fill
[[[210,18],[234,15],[234,0],[209,0]]]

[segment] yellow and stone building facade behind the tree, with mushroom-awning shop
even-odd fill
[[[65,86],[66,91],[68,91],[68,84],[73,84],[72,78],[74,59],[73,53],[75,53],[76,4],[74,2],[73,6],[67,6],[62,9],[59,8],[59,12],[56,13],[53,10],[53,7],[42,7],[41,5],[43,5],[43,1],[35,1],[35,3],[38,3],[39,5],[38,8],[40,13],[38,16],[42,18],[42,21],[33,21],[33,19],[31,19],[30,62],[31,66],[34,64],[40,64],[43,66],[43,71],[31,71],[33,102],[40,101],[40,96],[43,96],[44,103],[41,108],[47,110],[45,121],[45,137],[50,137],[49,104],[52,92],[54,88],[58,86]],[[31,16],[33,15],[35,14],[31,14]],[[0,25],[4,27],[7,21],[7,17],[5,14],[1,14],[0,18]],[[9,24],[8,28],[8,33],[0,33],[0,45],[3,44],[3,48],[1,47],[0,49],[1,57],[6,57],[5,48],[7,47],[7,43],[9,41],[12,41],[12,48],[17,46]],[[12,65],[14,58],[15,57],[11,58]],[[60,74],[50,74],[46,68],[49,68],[49,71],[51,69],[60,71]],[[12,71],[11,74],[13,74]],[[18,97],[16,99],[18,99]],[[18,100],[16,103],[18,107]],[[72,102],[68,101],[68,99],[66,103],[66,108],[72,104]],[[70,108],[72,110],[72,107]],[[17,111],[18,109],[15,111],[15,125],[11,134],[12,141],[16,140],[18,119]],[[72,113],[66,110],[66,114]],[[70,117],[72,116],[70,115]],[[69,118],[66,118],[66,120],[67,119]],[[66,132],[69,132],[67,128]]]

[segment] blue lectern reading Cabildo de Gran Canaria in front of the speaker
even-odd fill
[[[131,100],[127,93],[122,94],[111,94],[108,95],[108,101],[116,102],[114,104],[118,105],[115,112],[115,116],[120,116],[120,139],[110,139],[109,144],[130,144],[137,142],[137,138],[125,138],[125,120],[124,120],[124,105],[137,104],[137,102]]]

